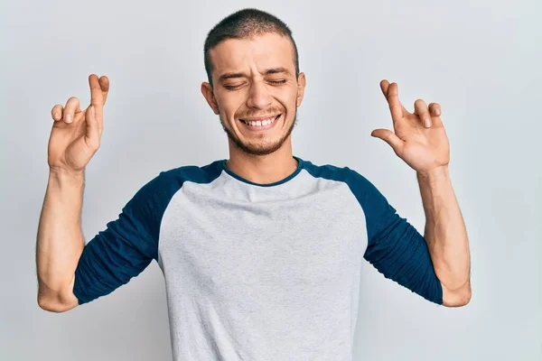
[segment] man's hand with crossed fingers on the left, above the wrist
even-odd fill
[[[98,151],[104,128],[104,106],[109,79],[89,76],[90,105],[79,108],[79,99],[70,97],[66,106],[53,106],[54,120],[49,138],[48,162],[51,171],[80,174]]]

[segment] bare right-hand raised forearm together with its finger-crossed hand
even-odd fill
[[[396,83],[383,80],[380,88],[388,100],[394,132],[376,129],[371,135],[388,143],[416,171],[425,210],[422,239],[442,283],[444,305],[463,306],[471,300],[471,257],[467,230],[448,174],[450,145],[441,106],[427,106],[417,99],[414,112],[409,113],[399,101]]]

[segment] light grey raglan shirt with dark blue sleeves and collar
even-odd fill
[[[225,160],[160,172],[85,246],[79,304],[155,260],[175,361],[351,360],[362,259],[442,304],[424,237],[369,180],[294,158],[265,185]]]

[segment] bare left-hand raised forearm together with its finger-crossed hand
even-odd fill
[[[38,304],[61,312],[77,306],[72,289],[85,245],[80,228],[84,170],[98,151],[103,130],[107,77],[89,76],[91,101],[85,110],[70,97],[66,106],[52,108],[48,146],[49,181],[36,240]]]

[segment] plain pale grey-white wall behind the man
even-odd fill
[[[228,156],[200,93],[202,49],[215,23],[247,6],[283,19],[299,47],[307,88],[294,153],[360,171],[420,230],[414,171],[369,136],[391,126],[378,82],[397,81],[409,110],[417,98],[443,109],[472,301],[435,306],[360,259],[355,359],[542,359],[538,0],[3,1],[0,359],[171,359],[156,263],[70,312],[36,303],[51,107],[71,96],[87,106],[89,74],[110,79],[102,146],[87,171],[89,240],[159,171]]]

